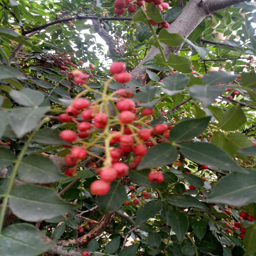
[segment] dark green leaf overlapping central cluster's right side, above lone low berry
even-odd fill
[[[160,143],[152,147],[143,157],[138,170],[171,165],[178,157],[177,149],[169,143]]]

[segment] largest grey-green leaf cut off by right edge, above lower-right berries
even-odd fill
[[[256,174],[248,169],[248,174],[231,173],[222,177],[207,197],[209,202],[242,206],[256,197]],[[239,181],[239,182],[238,182]]]

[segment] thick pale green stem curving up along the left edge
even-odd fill
[[[25,155],[25,153],[28,149],[28,145],[31,143],[35,133],[37,133],[37,131],[43,126],[44,123],[47,123],[49,121],[50,121],[50,119],[48,117],[46,117],[40,122],[40,124],[34,129],[32,134],[29,136],[27,142],[25,143],[24,147],[22,148],[22,151],[20,151],[20,153],[19,153],[16,164],[15,164],[15,166],[13,168],[13,171],[12,171],[12,174],[10,176],[7,191],[4,194],[4,200],[3,200],[3,203],[2,203],[1,213],[0,213],[0,234],[2,232],[5,211],[6,211],[6,208],[7,208],[8,200],[9,200],[10,193],[11,193],[11,190],[12,190],[12,186],[13,186],[13,183],[14,183],[17,171],[18,171],[19,164],[21,163],[21,161],[22,161],[22,159],[23,159],[23,157],[24,157],[24,155]]]

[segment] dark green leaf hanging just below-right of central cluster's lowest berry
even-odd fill
[[[98,196],[98,206],[100,210],[108,214],[118,210],[127,199],[126,191],[122,183],[114,181],[111,183],[111,188],[105,196]]]

